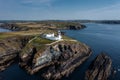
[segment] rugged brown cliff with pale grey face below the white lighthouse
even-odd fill
[[[57,80],[68,76],[91,55],[91,49],[85,44],[76,41],[60,41],[44,46],[44,50],[34,47],[24,49],[20,54],[19,63],[28,73],[34,74],[43,68],[43,77],[48,80]]]

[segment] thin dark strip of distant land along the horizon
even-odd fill
[[[101,24],[120,24],[120,20],[0,20],[1,23],[16,22],[79,22],[79,23],[101,23]]]

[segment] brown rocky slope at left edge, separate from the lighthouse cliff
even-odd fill
[[[0,71],[5,70],[29,41],[29,36],[0,40]]]

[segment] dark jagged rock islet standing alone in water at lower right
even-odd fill
[[[86,72],[86,80],[108,80],[111,74],[112,60],[105,53],[96,57]]]

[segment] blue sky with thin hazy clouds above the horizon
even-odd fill
[[[120,0],[0,0],[0,20],[120,20]]]

